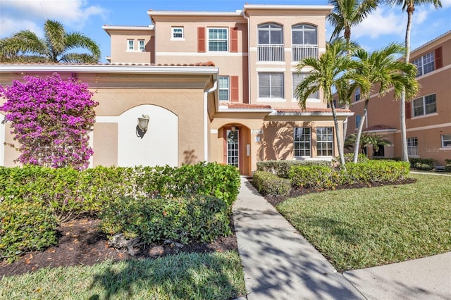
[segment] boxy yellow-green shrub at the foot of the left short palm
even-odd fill
[[[290,182],[295,187],[328,189],[337,185],[336,171],[326,165],[295,165],[290,168]]]

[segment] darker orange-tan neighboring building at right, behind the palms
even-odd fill
[[[435,158],[445,165],[451,158],[451,31],[414,49],[411,62],[418,68],[419,94],[406,104],[407,149],[409,157]],[[347,134],[357,132],[364,99],[352,96]],[[376,156],[401,157],[400,104],[393,91],[369,100],[364,132],[389,139],[393,146],[382,147]],[[371,151],[369,152],[371,154]]]

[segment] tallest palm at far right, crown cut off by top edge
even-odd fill
[[[402,11],[407,12],[407,27],[405,37],[405,61],[410,60],[410,29],[412,27],[412,18],[414,16],[415,6],[423,4],[433,4],[435,8],[442,7],[440,0],[385,0],[386,3],[393,5],[402,5]],[[401,159],[402,161],[409,161],[407,154],[407,134],[406,134],[406,95],[402,94],[400,101],[400,126],[401,126]]]

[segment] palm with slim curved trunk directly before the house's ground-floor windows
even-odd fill
[[[307,98],[310,94],[319,92],[321,89],[324,95],[324,101],[332,109],[333,122],[335,125],[335,137],[338,144],[338,154],[340,164],[345,165],[345,156],[342,148],[342,136],[340,127],[338,127],[337,112],[333,104],[333,89],[338,94],[344,94],[347,90],[348,80],[359,82],[359,85],[369,89],[366,79],[353,72],[357,67],[357,62],[345,55],[347,43],[344,39],[335,39],[326,45],[326,52],[319,58],[304,58],[297,64],[297,72],[302,73],[303,68],[311,68],[310,75],[306,77],[295,90],[295,95],[299,99],[299,106],[306,107]]]

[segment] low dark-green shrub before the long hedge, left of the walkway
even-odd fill
[[[144,243],[213,242],[232,233],[228,211],[226,202],[214,196],[121,198],[101,213],[101,230],[110,237],[139,237]]]

